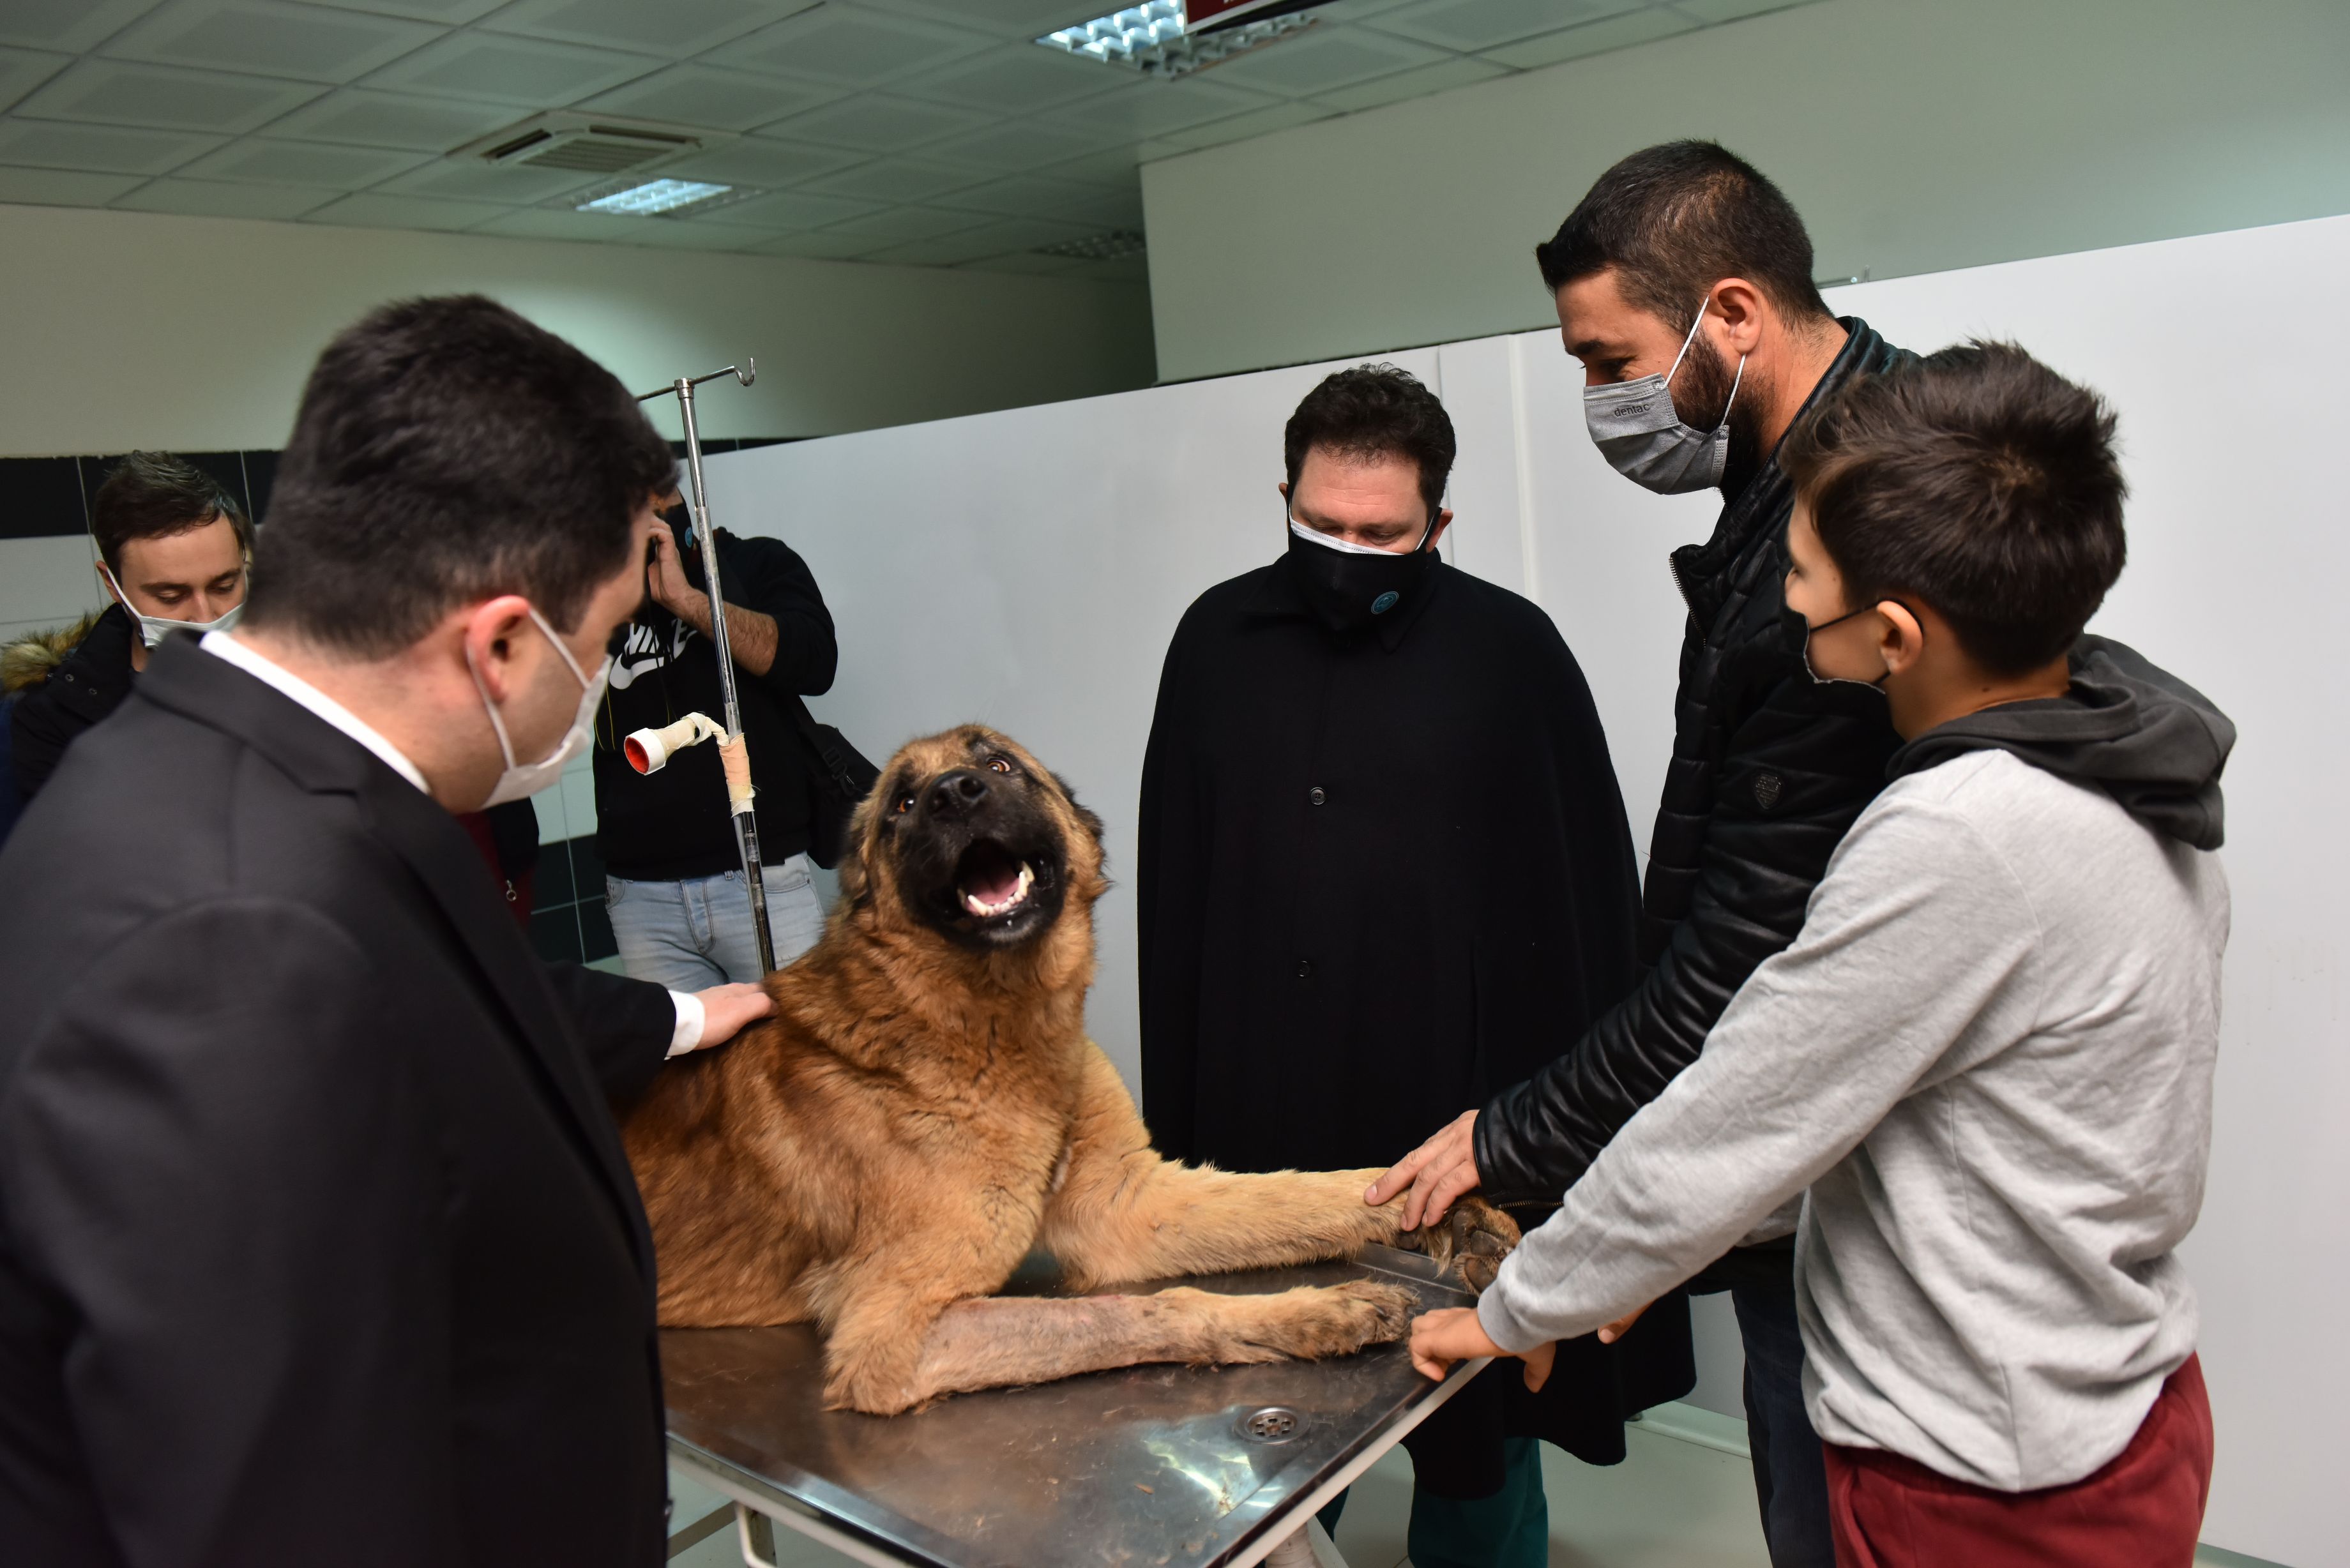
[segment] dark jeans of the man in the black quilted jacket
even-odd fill
[[[1772,1568],[1835,1568],[1828,1462],[1802,1408],[1802,1331],[1795,1281],[1730,1286],[1746,1342],[1746,1446]]]

